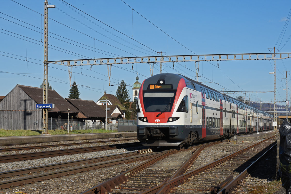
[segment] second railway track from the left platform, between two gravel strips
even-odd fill
[[[24,154],[2,155],[0,156],[0,163],[47,158],[47,157],[53,157],[53,156],[63,156],[63,155],[70,155],[70,154],[79,154],[79,153],[84,153],[84,152],[96,152],[96,151],[102,151],[102,150],[108,150],[108,149],[120,149],[120,148],[126,148],[126,147],[136,147],[136,146],[143,146],[143,145],[139,142],[122,143],[122,144],[81,147],[81,148],[72,148],[72,149],[60,149],[60,150],[45,151],[45,152],[31,152],[31,153],[24,153]]]

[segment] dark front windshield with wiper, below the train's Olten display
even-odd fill
[[[146,112],[170,112],[175,99],[175,92],[143,92],[143,104]]]

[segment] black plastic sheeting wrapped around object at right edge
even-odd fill
[[[279,159],[280,168],[278,176],[281,177],[282,186],[285,189],[290,188],[291,184],[291,124],[284,120],[280,129],[280,148]]]

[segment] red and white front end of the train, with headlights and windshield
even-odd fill
[[[185,81],[179,76],[179,84],[164,87],[166,89],[156,82],[143,83],[141,88],[146,88],[139,90],[137,138],[143,145],[178,146],[185,139],[185,114],[189,112]]]

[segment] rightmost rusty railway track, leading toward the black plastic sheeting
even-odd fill
[[[250,165],[255,165],[263,154],[276,145],[276,142],[267,141],[270,138],[202,167],[194,170],[190,168],[191,171],[168,181],[156,193],[230,193],[247,175]]]

